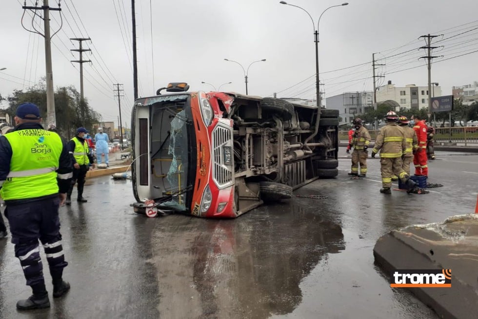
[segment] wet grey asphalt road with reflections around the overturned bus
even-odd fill
[[[92,178],[88,203],[60,208],[71,291],[53,299],[48,285],[50,309],[18,312],[30,290],[13,245],[0,240],[0,318],[437,318],[390,288],[372,252],[392,229],[474,211],[478,156],[437,154],[429,182],[444,187],[430,194],[380,194],[378,159],[352,180],[341,158],[337,179],[295,192],[327,198],[295,197],[234,220],[150,219],[129,207],[130,180]]]

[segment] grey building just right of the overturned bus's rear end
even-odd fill
[[[350,123],[356,114],[364,113],[372,104],[372,91],[345,92],[325,99],[327,108],[338,109],[340,125]]]

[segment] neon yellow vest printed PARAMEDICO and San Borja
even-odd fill
[[[1,198],[27,199],[58,193],[56,170],[63,149],[60,135],[44,129],[21,129],[4,136],[12,148],[12,158]]]

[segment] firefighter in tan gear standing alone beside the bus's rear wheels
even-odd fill
[[[371,138],[368,129],[363,127],[361,119],[354,119],[352,124],[355,128],[355,133],[352,136],[352,144],[349,144],[349,147],[354,148],[354,151],[352,152],[352,171],[349,175],[365,177],[367,174],[367,149]]]

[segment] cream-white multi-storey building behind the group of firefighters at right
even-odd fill
[[[432,97],[434,96],[441,96],[441,87],[438,85],[432,85]],[[388,100],[395,101],[400,106],[395,111],[428,107],[428,86],[395,86],[392,81],[388,81],[387,85],[377,87],[377,102]]]

